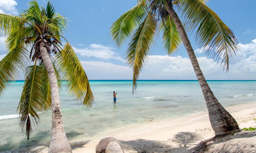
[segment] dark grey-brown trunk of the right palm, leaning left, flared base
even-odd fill
[[[236,122],[236,120],[230,115],[230,113],[222,107],[217,98],[212,93],[208,83],[205,80],[205,77],[199,67],[196,55],[194,50],[190,44],[186,31],[176,14],[175,10],[172,7],[167,8],[167,11],[170,17],[173,19],[177,30],[180,34],[180,37],[185,45],[185,48],[188,52],[188,56],[191,60],[192,66],[196,73],[196,77],[201,86],[203,95],[205,97],[205,102],[207,105],[209,119],[212,126],[212,129],[215,132],[215,135],[225,135],[231,132],[238,132],[240,128]]]

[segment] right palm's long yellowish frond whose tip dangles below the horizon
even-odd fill
[[[154,14],[149,13],[144,21],[139,25],[135,31],[128,49],[126,51],[127,63],[133,68],[133,93],[136,90],[136,80],[145,63],[150,48],[154,43],[154,36],[157,31],[158,22]]]

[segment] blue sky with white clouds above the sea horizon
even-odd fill
[[[28,2],[1,0],[0,12],[17,15],[17,12],[27,8]],[[131,69],[124,62],[127,46],[124,44],[118,49],[109,36],[109,28],[125,11],[136,5],[137,0],[51,2],[54,3],[56,12],[71,20],[64,36],[74,47],[89,79],[132,79]],[[45,0],[38,0],[38,3],[46,5]],[[201,53],[193,36],[190,36],[206,79],[256,80],[256,1],[248,0],[241,4],[238,0],[210,0],[207,5],[233,30],[240,43],[241,53],[231,60],[230,72],[227,74],[219,64]],[[161,37],[160,35],[157,45],[151,50],[152,56],[149,56],[140,79],[196,79],[183,45],[172,56],[165,56]],[[0,57],[6,53],[1,47],[3,37],[1,39]]]

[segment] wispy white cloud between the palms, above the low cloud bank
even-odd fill
[[[115,52],[112,50],[114,49],[111,46],[103,46],[101,44],[91,44],[90,47],[86,48],[75,48],[73,47],[74,51],[81,55],[81,56],[87,56],[87,57],[97,57],[101,59],[116,59],[123,61],[124,60],[118,56]]]

